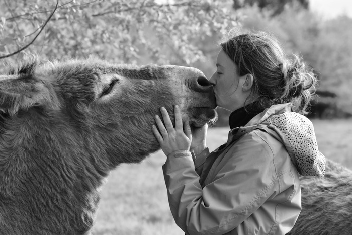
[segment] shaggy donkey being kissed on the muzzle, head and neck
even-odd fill
[[[196,127],[216,118],[204,74],[90,57],[0,75],[0,234],[89,234],[111,170],[159,149],[159,108]]]

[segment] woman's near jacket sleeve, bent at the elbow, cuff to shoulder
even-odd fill
[[[202,189],[191,153],[170,153],[163,172],[177,225],[190,235],[224,234],[236,228],[275,194],[273,158],[269,145],[248,133],[230,146],[215,178]]]

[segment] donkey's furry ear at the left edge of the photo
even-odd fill
[[[0,112],[16,115],[33,106],[47,106],[52,97],[47,86],[31,74],[0,75]]]

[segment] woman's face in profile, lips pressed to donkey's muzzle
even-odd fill
[[[243,107],[247,98],[239,88],[243,77],[239,76],[237,66],[223,50],[218,54],[216,67],[209,82],[213,85],[217,106],[231,112]]]

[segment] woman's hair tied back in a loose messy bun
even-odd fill
[[[220,44],[238,68],[238,74],[252,74],[251,94],[246,110],[266,109],[275,104],[292,103],[292,111],[307,114],[316,75],[302,58],[286,57],[278,40],[265,33],[244,33]]]

